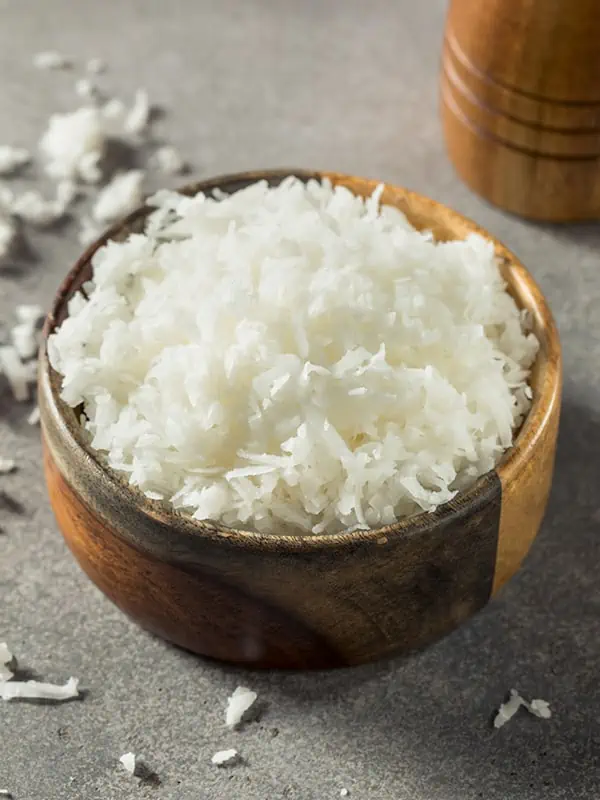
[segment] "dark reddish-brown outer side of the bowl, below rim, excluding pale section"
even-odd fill
[[[495,473],[478,502],[416,535],[264,552],[198,538],[181,558],[126,541],[87,506],[45,448],[50,499],[88,576],[123,611],[189,650],[253,667],[328,668],[426,645],[487,602],[500,519]],[[106,507],[103,509],[106,514]],[[128,512],[125,511],[125,517]]]

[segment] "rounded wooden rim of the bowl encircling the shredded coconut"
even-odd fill
[[[526,306],[533,314],[537,335],[540,339],[540,351],[537,359],[543,358],[541,364],[544,373],[539,382],[541,388],[539,391],[534,392],[532,406],[517,433],[513,445],[503,454],[496,466],[480,476],[467,489],[459,491],[453,500],[438,506],[433,512],[422,511],[410,517],[402,518],[391,525],[369,530],[345,530],[338,533],[320,534],[303,532],[298,532],[297,534],[263,533],[244,528],[229,528],[209,520],[195,520],[190,515],[169,507],[168,501],[151,500],[138,487],[129,485],[117,471],[102,462],[96,451],[87,444],[81,435],[79,420],[76,418],[74,409],[67,406],[59,396],[57,390],[59,376],[50,366],[47,344],[48,336],[56,326],[58,310],[68,300],[73,284],[80,272],[101,247],[151,211],[151,208],[145,203],[126,218],[112,225],[82,253],[61,282],[53,298],[44,324],[39,359],[40,401],[42,398],[47,401],[40,402],[42,407],[42,435],[44,435],[44,410],[46,410],[52,416],[58,434],[64,440],[69,451],[75,453],[76,457],[80,457],[85,466],[92,469],[96,478],[107,483],[113,494],[132,504],[135,511],[147,518],[149,522],[175,528],[179,535],[183,535],[186,538],[209,539],[221,543],[227,542],[250,549],[294,552],[299,550],[313,551],[367,543],[387,544],[392,538],[410,537],[423,531],[437,529],[439,526],[446,525],[451,519],[455,519],[457,514],[466,517],[467,514],[472,513],[474,508],[487,501],[490,495],[490,481],[494,475],[498,476],[501,484],[510,482],[518,477],[527,462],[528,456],[548,425],[556,403],[560,400],[562,382],[558,330],[539,286],[521,261],[502,242],[477,223],[426,195],[384,181],[324,170],[267,169],[219,175],[206,180],[188,183],[174,191],[187,192],[188,194],[200,191],[208,193],[217,188],[226,188],[228,184],[248,184],[258,180],[278,183],[290,175],[305,181],[327,178],[334,184],[341,183],[347,186],[359,182],[369,191],[373,191],[379,184],[383,183],[385,192],[389,190],[403,197],[409,206],[414,205],[419,209],[427,209],[430,212],[429,218],[432,222],[443,215],[446,220],[464,228],[465,231],[478,233],[492,242],[501,267],[506,270],[505,280],[511,295],[515,297],[520,307]],[[538,364],[537,360],[536,364]],[[132,536],[131,538],[135,539],[136,542],[140,541],[138,537]]]

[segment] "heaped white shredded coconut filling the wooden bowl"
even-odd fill
[[[431,511],[490,470],[538,342],[491,242],[436,243],[327,181],[159,192],[51,337],[92,447],[203,520],[320,533]]]

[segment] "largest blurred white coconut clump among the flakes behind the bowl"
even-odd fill
[[[53,114],[40,140],[48,175],[58,179],[81,179],[86,183],[99,179],[98,164],[105,145],[102,115],[90,106],[66,114]]]

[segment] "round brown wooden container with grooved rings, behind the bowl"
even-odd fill
[[[490,202],[600,218],[597,0],[452,0],[441,113],[454,166]]]

